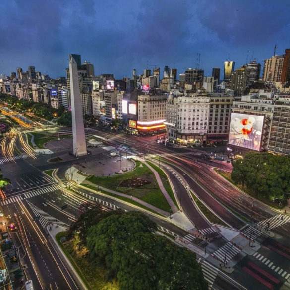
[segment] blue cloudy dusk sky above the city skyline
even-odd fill
[[[224,61],[262,64],[290,48],[290,0],[0,1],[0,73],[17,67],[65,76],[80,54],[95,74],[131,77],[157,65],[205,75]],[[221,69],[223,71],[223,69]],[[223,74],[223,73],[222,73]],[[163,76],[163,75],[162,75]]]

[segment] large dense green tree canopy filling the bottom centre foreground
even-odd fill
[[[87,248],[93,263],[118,279],[120,290],[207,289],[195,254],[156,231],[140,212],[118,213],[91,227]]]

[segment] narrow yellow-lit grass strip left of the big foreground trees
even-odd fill
[[[89,290],[119,290],[116,280],[106,281],[104,268],[90,263],[87,251],[77,250],[77,236],[61,243],[60,238],[63,236],[65,232],[58,233],[57,242]]]

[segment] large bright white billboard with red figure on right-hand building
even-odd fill
[[[229,143],[251,150],[260,150],[264,116],[231,114]]]

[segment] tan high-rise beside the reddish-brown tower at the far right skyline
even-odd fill
[[[281,73],[284,62],[284,55],[271,57],[264,60],[263,81],[281,82]]]

